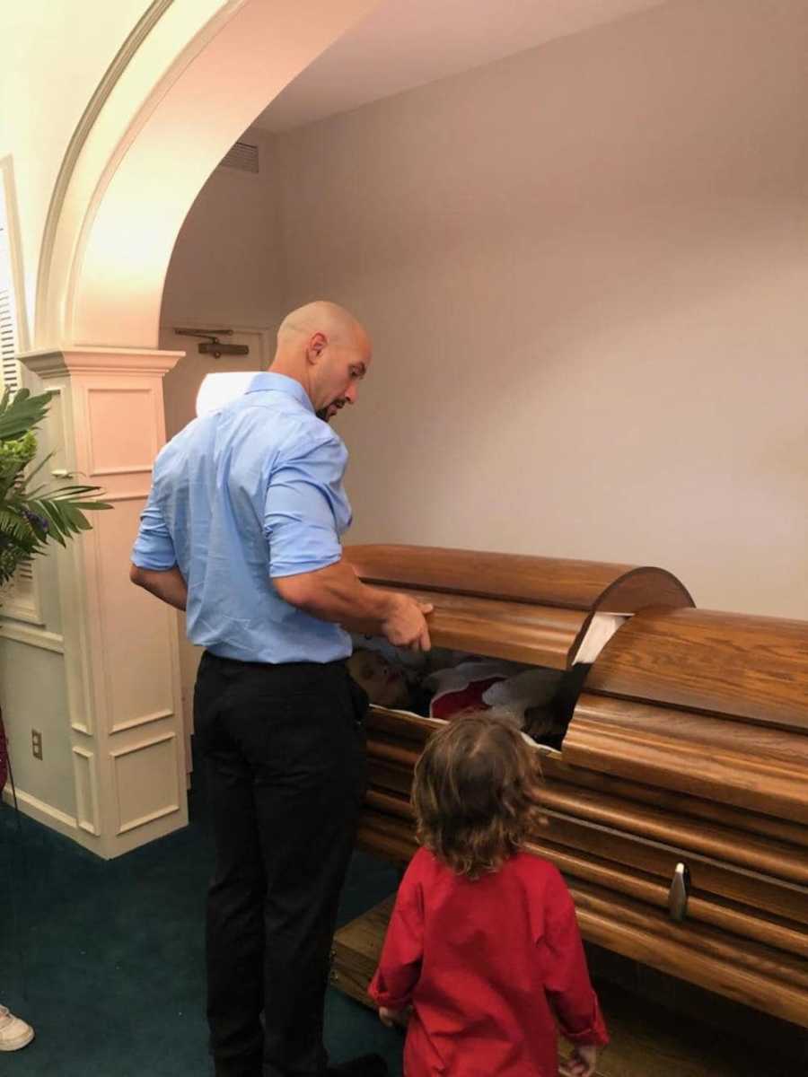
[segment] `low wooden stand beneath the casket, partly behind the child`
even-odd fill
[[[334,936],[332,985],[365,1006],[393,901]],[[785,1077],[808,1066],[802,1029],[599,947],[587,946],[587,956],[612,1040],[597,1077]]]

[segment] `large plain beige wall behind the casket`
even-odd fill
[[[682,2],[279,138],[285,306],[376,340],[354,541],[808,617],[807,55],[804,0]]]

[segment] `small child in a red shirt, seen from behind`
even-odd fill
[[[540,819],[538,753],[488,715],[432,736],[415,770],[421,848],[399,890],[368,988],[406,1023],[405,1077],[595,1073],[608,1035],[558,870],[523,850]]]

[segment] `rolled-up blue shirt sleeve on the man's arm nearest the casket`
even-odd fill
[[[291,447],[269,475],[264,534],[269,575],[295,576],[335,564],[339,535],[350,523],[343,490],[347,453],[342,442]]]

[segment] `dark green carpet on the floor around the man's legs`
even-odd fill
[[[0,806],[0,1003],[36,1030],[0,1053],[13,1077],[206,1077],[204,913],[212,847],[198,794],[185,829],[103,862]],[[398,884],[356,854],[340,923]],[[335,991],[334,1061],[378,1051],[401,1074],[400,1035]]]

